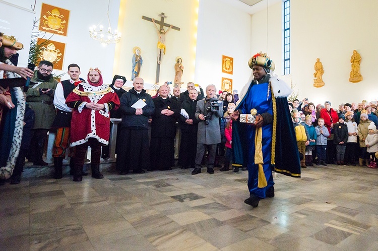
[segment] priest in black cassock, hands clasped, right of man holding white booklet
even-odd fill
[[[160,86],[159,96],[153,98],[155,112],[152,115],[150,159],[152,170],[171,170],[174,166],[174,137],[176,119],[180,115],[177,102],[168,97],[168,86]]]

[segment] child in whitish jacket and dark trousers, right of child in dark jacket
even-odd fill
[[[344,107],[349,107],[347,104]],[[350,107],[349,107],[350,108]],[[348,141],[345,147],[344,164],[350,163],[355,166],[356,155],[358,153],[358,143],[357,143],[357,123],[353,118],[353,111],[349,110],[345,113],[345,123],[348,127]]]

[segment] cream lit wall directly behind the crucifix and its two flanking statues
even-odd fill
[[[119,27],[123,38],[116,47],[114,74],[131,79],[133,48],[138,46],[143,58],[140,77],[144,78],[145,83],[155,83],[158,32],[153,23],[143,20],[142,16],[160,21],[159,14],[163,12],[167,16],[164,22],[179,27],[180,31],[171,29],[166,34],[166,54],[161,61],[160,83],[174,81],[177,56],[182,57],[184,66],[181,82],[193,81],[197,5],[197,1],[122,0]]]

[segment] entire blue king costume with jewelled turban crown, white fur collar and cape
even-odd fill
[[[240,112],[232,128],[233,165],[247,166],[250,197],[244,202],[253,207],[259,200],[274,197],[272,170],[300,177],[299,153],[287,97],[291,88],[273,74],[274,62],[258,53],[249,67],[261,66],[266,75],[254,80],[253,74],[240,93],[236,110]],[[248,124],[259,114],[262,127]],[[249,120],[249,121],[248,121]]]

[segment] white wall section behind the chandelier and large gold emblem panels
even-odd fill
[[[22,0],[22,1],[7,1],[12,4],[16,4],[20,7],[31,9],[34,6],[34,0]],[[70,11],[70,17],[68,20],[67,36],[52,35],[46,33],[46,38],[50,40],[65,43],[65,54],[63,60],[63,70],[54,71],[55,74],[61,74],[67,72],[68,65],[76,63],[80,66],[82,78],[87,79],[88,69],[90,67],[98,67],[102,70],[104,83],[111,83],[113,79],[113,58],[115,45],[108,45],[103,47],[98,41],[89,37],[89,27],[97,25],[99,22],[107,28],[107,16],[106,11],[108,8],[107,1],[96,1],[96,4],[88,4],[86,1],[54,1],[54,0],[37,0],[35,6],[35,15],[37,20],[40,17],[40,11],[42,2],[48,5],[60,7]],[[110,22],[112,28],[116,28],[118,20],[120,0],[112,0],[110,6]],[[29,25],[32,27],[32,23],[22,23],[22,17],[20,17],[20,25]],[[67,25],[67,24],[66,24]],[[21,41],[23,43],[30,43],[30,41]],[[65,75],[62,79],[68,79],[69,76]]]

